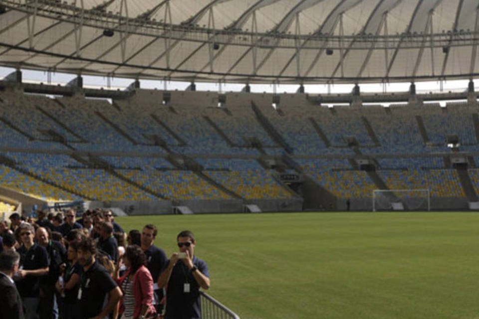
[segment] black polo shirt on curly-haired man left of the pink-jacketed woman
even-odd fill
[[[80,274],[81,299],[78,302],[80,318],[92,318],[100,314],[106,297],[115,287],[117,287],[115,281],[97,261],[87,272],[82,272]]]

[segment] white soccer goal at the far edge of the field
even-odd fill
[[[375,189],[373,211],[431,210],[429,189]]]

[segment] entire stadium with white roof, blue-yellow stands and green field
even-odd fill
[[[0,213],[197,230],[204,318],[475,318],[478,44],[477,0],[1,0]]]

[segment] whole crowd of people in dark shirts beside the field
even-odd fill
[[[0,319],[196,319],[210,287],[195,235],[170,258],[147,224],[125,234],[110,210],[37,212],[0,222]]]

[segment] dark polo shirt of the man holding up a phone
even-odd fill
[[[169,261],[164,270],[168,267]],[[206,262],[193,257],[195,265],[203,275],[210,278]],[[190,292],[185,293],[185,283],[190,284]],[[201,318],[200,286],[185,264],[178,260],[171,273],[166,294],[165,319],[199,319]]]

